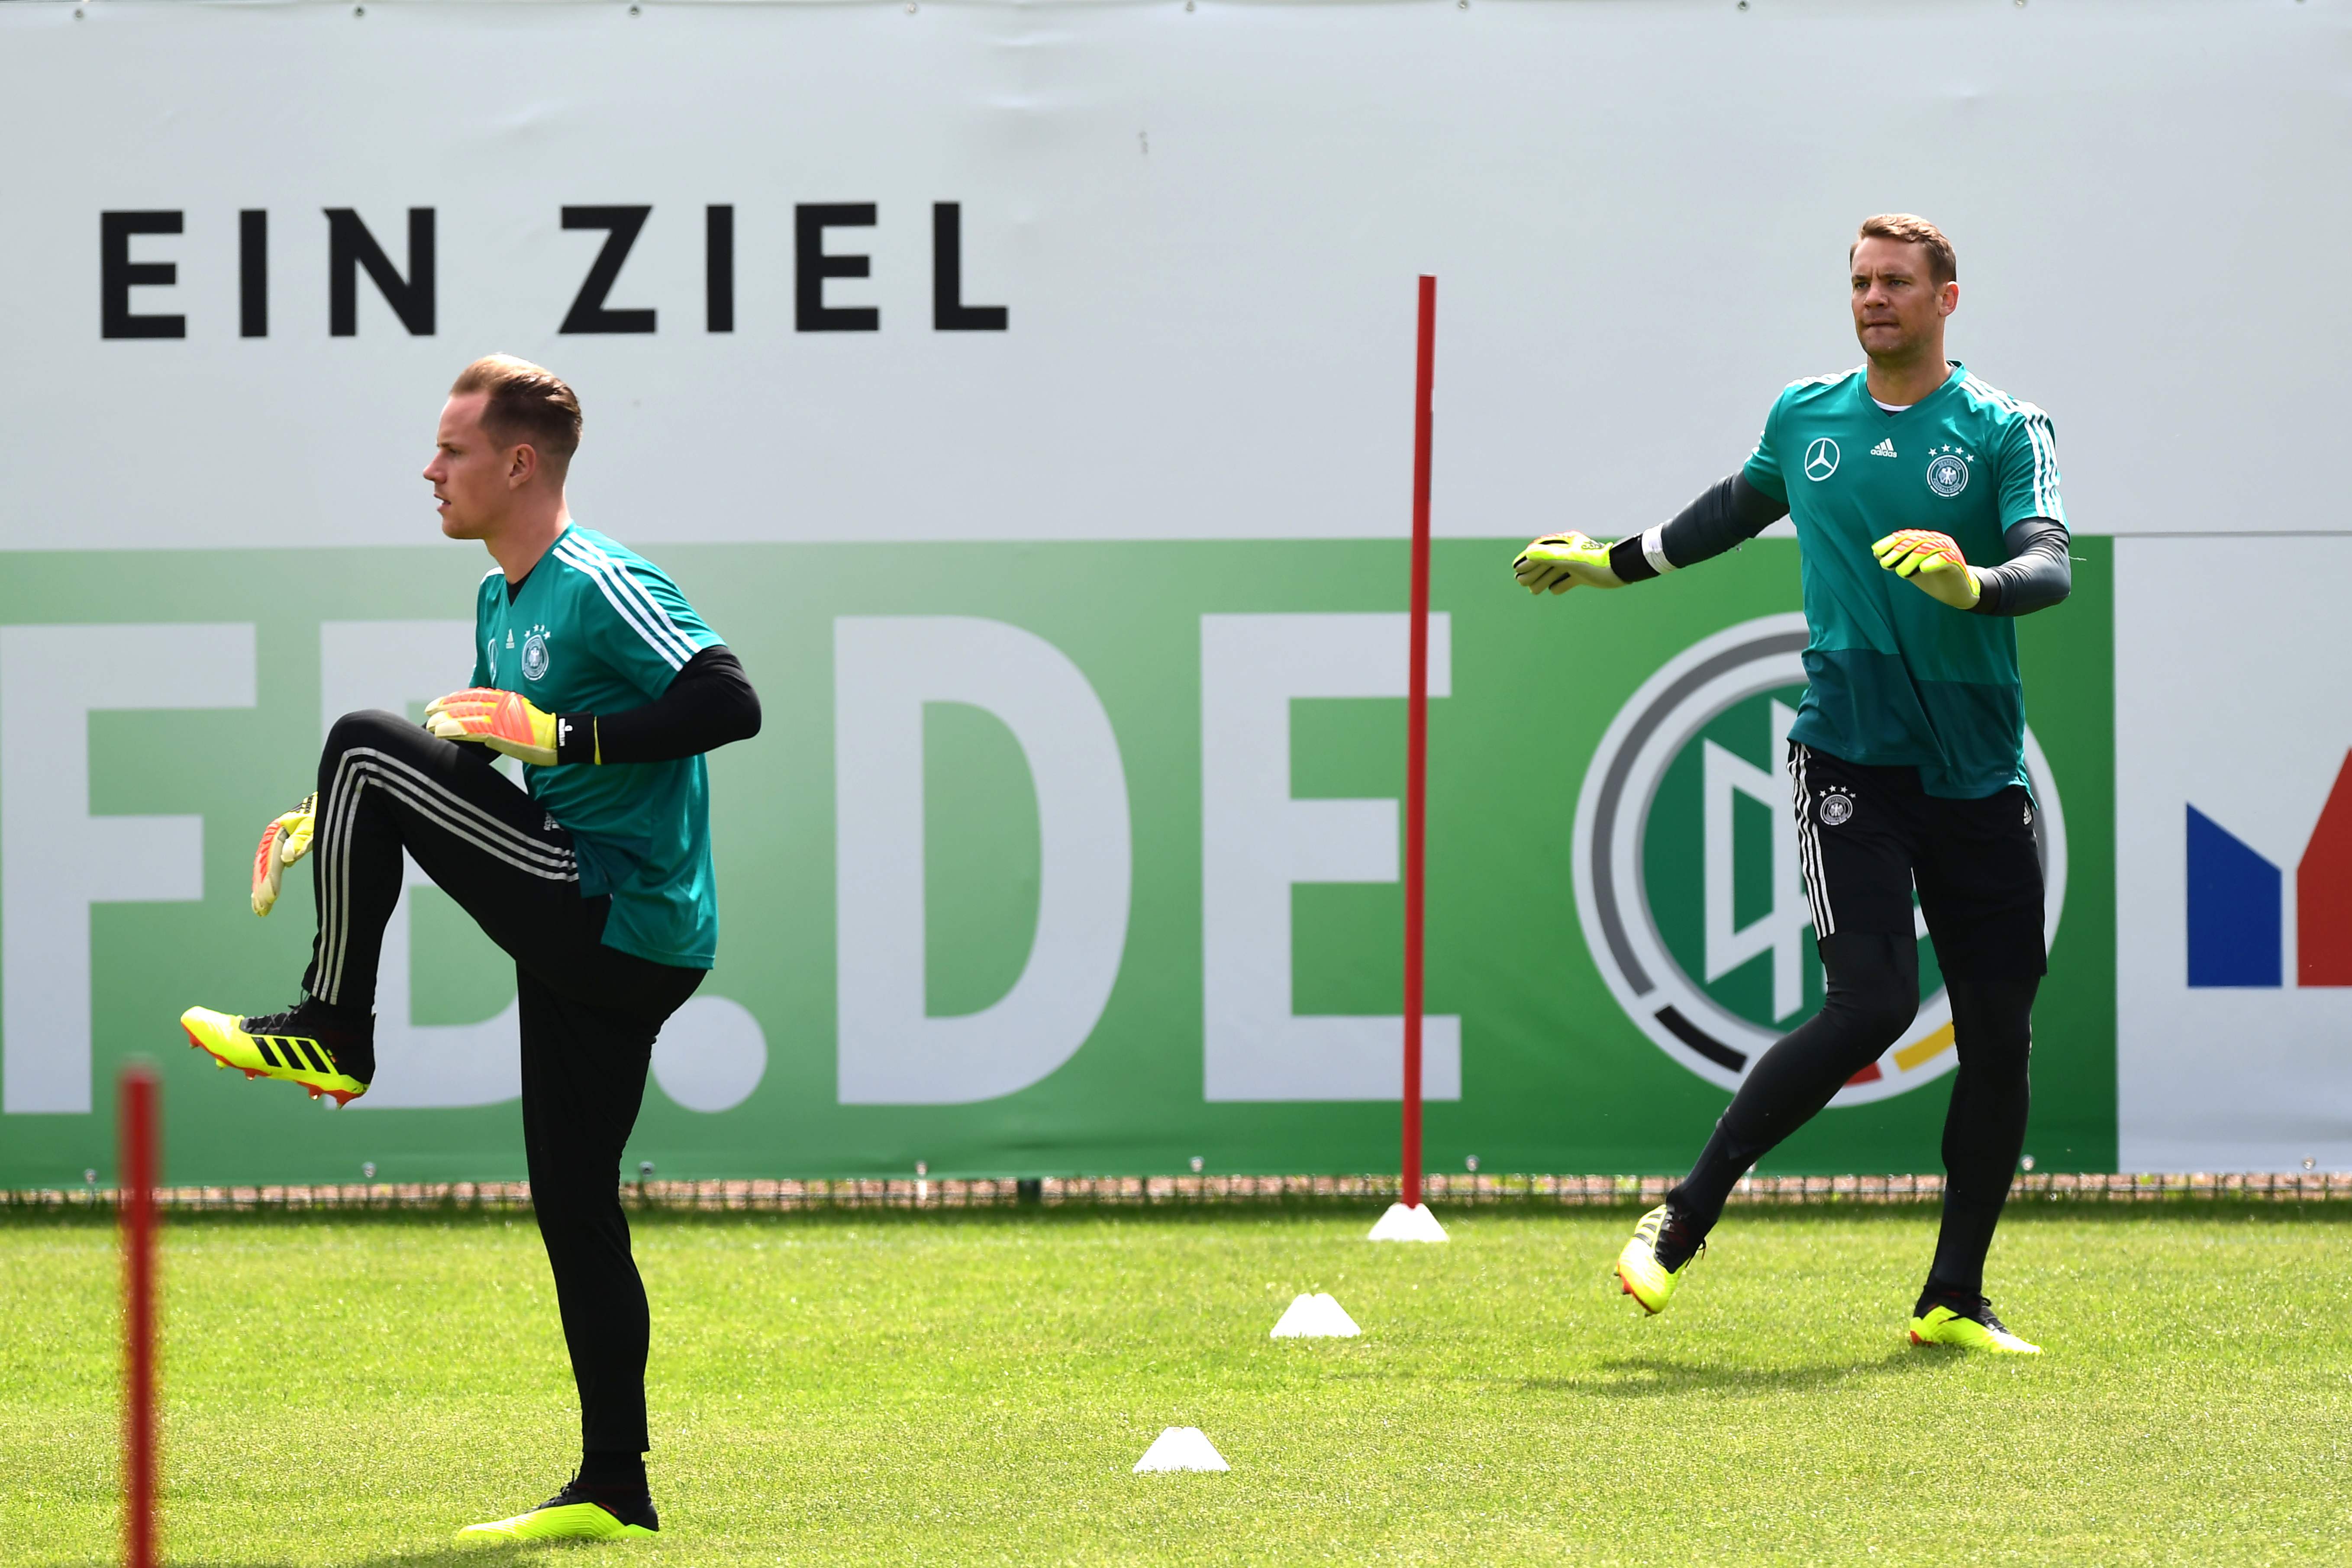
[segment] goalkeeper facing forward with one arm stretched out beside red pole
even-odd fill
[[[1917,889],[1959,1072],[1943,1229],[1910,1335],[2032,1354],[1985,1298],[1985,1253],[2025,1147],[2049,964],[2016,616],[2072,585],[2058,449],[2042,409],[1945,360],[1959,268],[1933,223],[1863,221],[1849,270],[1863,367],[1783,390],[1745,468],[1672,522],[1613,545],[1552,534],[1515,562],[1531,592],[1623,588],[1780,517],[1804,559],[1811,637],[1788,773],[1825,999],[1748,1070],[1691,1175],[1642,1215],[1618,1281],[1663,1309],[1740,1175],[1910,1027]]]

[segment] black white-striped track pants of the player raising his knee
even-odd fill
[[[390,712],[336,719],[318,762],[310,877],[320,933],[303,990],[372,1011],[407,851],[515,959],[532,1206],[581,1392],[588,1453],[644,1453],[644,1284],[621,1213],[621,1147],[663,1020],[703,971],[602,943],[572,835],[489,766]]]

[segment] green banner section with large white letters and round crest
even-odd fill
[[[1797,548],[1541,602],[1512,585],[1512,548],[1435,555],[1428,1161],[1679,1171],[1729,1088],[1628,1011],[1588,940],[1578,809],[1661,670],[1738,628],[1776,635]],[[2027,1150],[2098,1171],[2114,1164],[2112,548],[2074,550],[2074,597],[2018,628],[2065,870]],[[656,1048],[628,1173],[1395,1166],[1399,543],[656,559],[741,654],[767,724],[710,759],[720,961]],[[254,839],[310,788],[329,708],[414,712],[466,682],[482,567],[459,545],[7,557],[0,1185],[108,1180],[129,1056],[165,1065],[174,1182],[522,1173],[513,973],[430,886],[395,917],[386,1077],[353,1107],[214,1072],[176,1027],[191,1004],[294,999],[310,886],[296,872],[254,919]],[[1689,733],[1628,806],[1639,886],[1613,891],[1628,940],[1672,971],[1649,983],[1691,992],[1724,1039],[1820,999],[1776,865],[1785,795],[1757,783],[1778,780],[1776,715],[1802,696],[1773,670],[1719,710],[1677,710]],[[1938,1168],[1952,1051],[1933,1030],[1912,1046],[1764,1171]]]

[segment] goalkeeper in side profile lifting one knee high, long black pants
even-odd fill
[[[515,959],[532,1208],[581,1396],[581,1467],[555,1497],[459,1542],[652,1535],[644,1284],[621,1150],[654,1037],[717,954],[703,752],[760,729],[743,665],[677,583],[572,522],[581,411],[550,371],[492,355],[449,388],[423,477],[442,534],[496,562],[475,595],[473,684],[343,715],[318,792],[261,837],[254,912],[310,858],[303,997],[245,1018],[188,1009],[188,1041],[247,1077],[348,1103],[376,1072],[383,926],[416,860]],[[456,656],[456,649],[452,649]],[[492,762],[522,762],[522,788]]]

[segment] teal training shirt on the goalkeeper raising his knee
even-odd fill
[[[642,708],[724,642],[661,567],[579,524],[555,536],[513,602],[494,567],[473,625],[473,684],[520,691],[543,712]],[[522,780],[572,832],[581,896],[612,893],[604,945],[710,969],[720,900],[703,759],[524,766]]]

